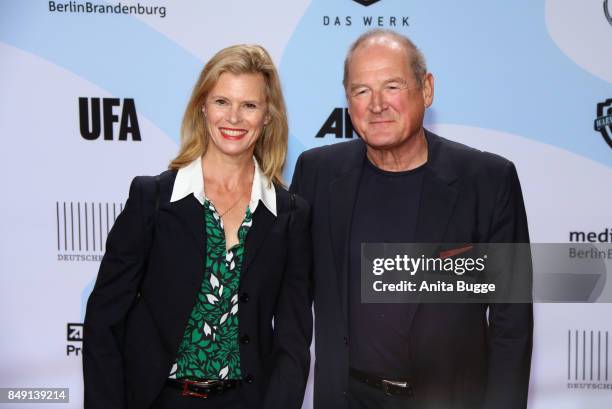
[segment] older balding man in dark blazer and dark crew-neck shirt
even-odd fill
[[[363,242],[528,242],[508,160],[423,128],[434,80],[407,38],[370,31],[344,67],[361,139],[312,149],[292,189],[312,206],[315,409],[524,408],[531,304],[363,304]]]

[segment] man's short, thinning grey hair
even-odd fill
[[[348,65],[353,55],[353,52],[355,52],[355,50],[359,48],[359,46],[366,43],[368,40],[378,37],[391,38],[392,40],[397,41],[404,47],[404,49],[406,50],[406,57],[409,60],[408,63],[412,68],[412,74],[414,75],[414,79],[416,80],[416,83],[419,88],[422,87],[423,79],[425,77],[425,74],[427,74],[427,64],[425,63],[425,56],[423,55],[421,50],[419,50],[419,48],[414,45],[414,43],[408,37],[398,32],[387,29],[375,29],[366,31],[365,33],[360,35],[359,38],[355,40],[353,44],[351,44],[351,47],[346,53],[346,58],[344,59],[344,77],[342,78],[342,84],[344,85],[344,89],[346,89],[348,86]]]

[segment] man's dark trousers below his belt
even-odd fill
[[[412,409],[417,408],[408,396],[385,395],[380,389],[349,377],[349,409]]]

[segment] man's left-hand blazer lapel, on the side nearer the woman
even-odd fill
[[[358,149],[351,152],[350,157],[344,162],[341,176],[334,179],[329,185],[332,253],[336,265],[339,299],[345,317],[348,317],[347,282],[351,221],[365,158],[365,145],[361,143],[356,147]]]

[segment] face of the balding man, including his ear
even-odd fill
[[[358,47],[348,68],[349,113],[364,142],[384,150],[410,143],[433,100],[431,74],[419,87],[406,51],[389,40]]]

